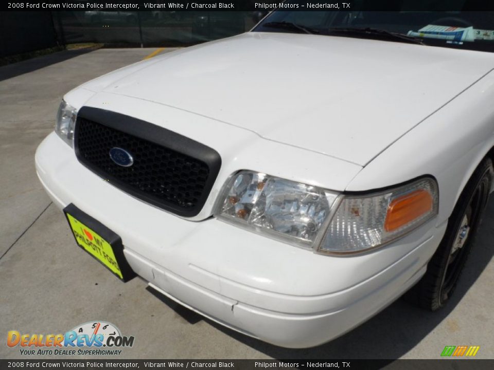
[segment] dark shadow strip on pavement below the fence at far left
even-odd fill
[[[48,55],[42,55],[41,57],[35,57],[25,61],[7,64],[0,67],[0,81],[24,75],[24,73],[29,73],[52,64],[60,63],[66,61],[67,59],[75,58],[79,55],[89,53],[94,50],[96,49],[86,48],[78,50],[63,50]]]

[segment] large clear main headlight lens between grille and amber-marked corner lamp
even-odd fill
[[[311,185],[252,171],[226,184],[218,217],[259,233],[311,247],[337,194]]]

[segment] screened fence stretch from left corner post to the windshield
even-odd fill
[[[66,43],[178,46],[221,39],[252,28],[254,12],[57,12]]]

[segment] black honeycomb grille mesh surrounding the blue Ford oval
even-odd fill
[[[76,140],[82,163],[123,190],[133,190],[137,197],[141,194],[190,209],[204,191],[209,168],[199,159],[83,118],[78,121]],[[113,147],[128,151],[134,164],[114,163],[109,154]]]

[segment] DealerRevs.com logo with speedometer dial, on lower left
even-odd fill
[[[20,347],[21,355],[121,355],[124,347],[134,345],[133,336],[122,336],[113,324],[90,321],[78,325],[65,334],[21,334],[10,330],[7,345]]]

